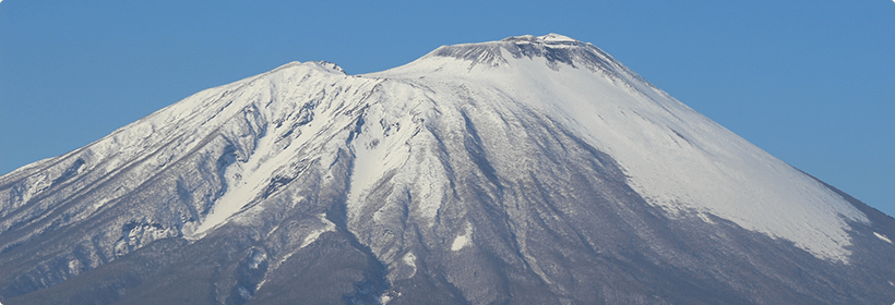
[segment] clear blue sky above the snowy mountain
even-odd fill
[[[895,215],[893,1],[306,2],[0,2],[0,173],[290,61],[357,74],[558,33]]]

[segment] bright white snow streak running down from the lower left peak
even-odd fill
[[[259,199],[273,178],[286,171],[295,160],[306,158],[309,147],[326,144],[327,137],[324,135],[335,133],[337,129],[333,126],[345,123],[348,119],[346,115],[337,115],[338,110],[353,106],[334,103],[332,98],[322,100],[321,96],[325,99],[324,93],[327,89],[332,91],[351,86],[369,87],[374,82],[348,77],[341,68],[332,63],[294,62],[243,83],[249,88],[240,91],[235,102],[228,103],[226,111],[216,117],[244,115],[248,118],[246,124],[250,125],[251,132],[258,133],[258,138],[253,139],[251,151],[237,151],[238,159],[241,159],[225,170],[226,192],[217,198],[199,225],[184,225],[187,239],[201,239],[210,230],[239,215]],[[333,83],[342,83],[344,87],[331,86]],[[333,96],[337,94],[336,91]],[[347,95],[346,98],[357,97]],[[309,105],[310,102],[317,103]],[[179,107],[180,103],[175,106]],[[313,119],[302,122],[303,125],[298,130],[290,130],[294,129],[294,123],[298,124],[296,121],[302,120],[295,114],[303,108],[312,109],[310,117]],[[255,122],[256,120],[261,121]],[[244,127],[238,131],[246,132]],[[288,136],[294,138],[284,142]]]

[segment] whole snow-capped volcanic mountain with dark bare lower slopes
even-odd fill
[[[0,176],[11,304],[891,304],[895,219],[590,44],[293,62]]]

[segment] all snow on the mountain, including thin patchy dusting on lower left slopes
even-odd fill
[[[210,142],[235,147],[235,161],[220,162],[226,168],[212,170],[206,176],[192,176],[196,184],[223,181],[225,186],[222,192],[208,195],[208,202],[200,203],[208,207],[193,211],[200,219],[191,217],[182,223],[182,232],[177,232],[177,225],[159,224],[170,222],[156,223],[147,219],[124,232],[123,239],[115,244],[116,254],[126,253],[154,240],[180,236],[179,233],[191,241],[202,239],[230,221],[264,221],[260,220],[263,212],[275,210],[265,210],[267,195],[285,194],[266,203],[320,211],[305,209],[317,204],[308,202],[314,200],[312,198],[289,192],[270,193],[272,186],[277,186],[274,179],[290,181],[306,170],[296,164],[309,160],[314,168],[307,170],[319,171],[310,174],[320,174],[321,187],[332,184],[341,187],[342,181],[333,183],[333,175],[327,175],[326,164],[333,164],[335,158],[344,156],[336,152],[347,149],[354,156],[347,188],[347,229],[356,233],[359,242],[370,246],[378,258],[390,264],[390,268],[395,265],[406,268],[402,264],[406,265],[413,269],[409,277],[414,277],[415,254],[397,255],[419,247],[408,240],[399,240],[404,236],[392,234],[390,222],[413,219],[416,225],[428,221],[429,228],[417,227],[419,234],[437,235],[442,249],[446,251],[450,245],[455,254],[467,247],[475,248],[476,243],[485,240],[476,235],[474,241],[473,224],[463,220],[465,216],[456,211],[457,207],[446,206],[466,204],[456,200],[458,196],[452,193],[456,190],[451,183],[452,179],[468,176],[474,170],[452,167],[462,163],[456,162],[457,158],[470,158],[472,154],[463,147],[444,147],[449,143],[445,139],[457,143],[457,138],[468,136],[468,126],[463,120],[472,113],[470,117],[476,117],[478,133],[490,139],[480,145],[488,152],[485,158],[493,166],[494,175],[512,182],[516,176],[530,174],[530,164],[536,162],[526,156],[526,150],[516,148],[528,145],[520,141],[524,137],[517,132],[527,132],[525,124],[534,121],[526,120],[534,120],[532,115],[535,115],[529,113],[537,113],[556,120],[575,136],[611,156],[623,169],[628,184],[648,204],[671,217],[693,218],[708,224],[729,220],[748,230],[790,241],[819,258],[848,263],[848,222],[868,222],[862,212],[818,181],[653,87],[612,58],[594,51],[593,45],[557,34],[485,44],[488,48],[476,49],[469,59],[437,56],[433,51],[403,66],[356,76],[345,75],[331,63],[295,62],[203,90],[83,149],[17,170],[59,164],[28,176],[24,183],[27,187],[13,204],[43,196],[41,192],[69,172],[98,171],[103,174],[97,176],[114,176],[121,168],[131,171],[136,178],[90,183],[118,187],[84,199],[91,212],[95,212],[131,194],[146,178],[180,162],[188,152],[211,147],[206,145]],[[597,61],[601,61],[573,68],[562,60],[549,62],[544,57],[514,58],[502,49],[506,44],[552,44],[550,51],[561,56],[564,50],[584,48],[594,51],[594,57],[599,58]],[[481,45],[460,47],[476,46]],[[480,52],[482,50],[485,52]],[[497,53],[487,53],[491,50]],[[469,64],[473,60],[499,64]],[[207,148],[211,152],[205,161],[218,160],[220,147],[224,146]],[[72,161],[82,159],[83,164],[72,167]],[[143,160],[146,161],[141,162]],[[188,179],[189,175],[184,174]],[[391,185],[378,188],[385,182]],[[372,190],[386,190],[411,200],[395,209],[389,206],[394,204],[387,202],[391,198],[383,204],[380,197],[371,196]],[[84,192],[93,193],[99,192]],[[167,202],[160,204],[164,203]],[[401,204],[404,203],[406,200]],[[371,208],[374,206],[375,209]],[[440,216],[444,210],[460,215],[460,219],[455,219],[455,215]],[[205,211],[207,213],[202,215]],[[187,221],[182,215],[178,217]],[[289,240],[290,248],[272,252],[271,270],[319,241],[324,233],[337,231],[326,213],[314,217],[317,219],[305,218],[307,222],[301,223],[301,229],[289,232],[294,237]],[[372,219],[372,224],[358,224],[367,219]],[[279,229],[277,224],[266,236]],[[525,228],[522,229],[524,232]],[[873,234],[893,243],[884,234]],[[516,236],[526,265],[551,284],[550,269],[541,269],[528,252],[528,236]],[[266,253],[256,252],[251,259],[249,266],[259,268],[268,257]],[[84,264],[87,261],[70,260],[68,267],[76,272],[88,268]],[[93,265],[98,264],[91,263]],[[263,284],[264,281],[259,286]],[[240,289],[249,295],[250,291]],[[383,294],[380,301],[387,303],[394,295],[399,293]]]

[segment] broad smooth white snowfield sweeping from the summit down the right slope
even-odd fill
[[[532,44],[571,39],[537,38]],[[513,58],[505,48],[500,51],[506,63],[499,66],[458,64],[464,59],[433,51],[409,64],[361,76],[432,88],[464,86],[479,100],[537,109],[614,158],[632,187],[653,205],[671,213],[715,215],[791,241],[820,258],[847,263],[847,221],[868,219],[814,179],[655,88],[614,59],[600,56],[613,65],[616,75],[609,75],[564,63],[554,70],[542,57]],[[456,100],[434,89],[429,98]],[[515,169],[497,170],[512,176]],[[418,174],[438,175],[425,170]],[[465,242],[457,237],[454,244]]]

